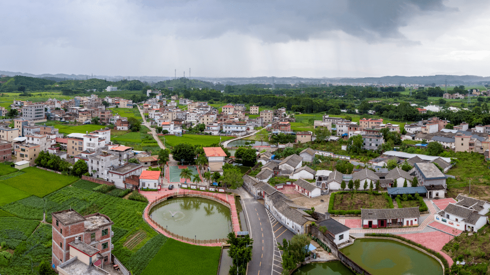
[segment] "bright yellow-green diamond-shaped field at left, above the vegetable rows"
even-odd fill
[[[76,177],[63,176],[36,167],[27,167],[22,169],[22,171],[24,171],[25,174],[0,181],[0,183],[10,185],[25,193],[42,198],[78,180]]]

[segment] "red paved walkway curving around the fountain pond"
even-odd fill
[[[233,225],[233,231],[237,233],[240,231],[240,222],[238,221],[238,213],[237,213],[237,207],[235,206],[235,196],[234,195],[228,195],[228,194],[222,194],[222,193],[211,193],[211,192],[204,192],[204,191],[197,191],[197,190],[187,190],[187,189],[180,189],[180,188],[175,188],[173,190],[166,190],[162,189],[160,191],[140,191],[140,194],[144,195],[148,201],[151,203],[155,201],[157,198],[162,197],[167,194],[202,194],[202,195],[209,195],[212,197],[218,197],[221,198],[222,200],[228,202],[230,204],[230,213],[231,213],[231,221]],[[145,208],[145,213],[144,213],[144,218],[147,221],[147,223],[153,227],[154,229],[157,229],[158,232],[164,234],[165,236],[169,238],[174,238],[171,235],[167,234],[164,232],[162,229],[159,229],[156,224],[151,222],[148,216],[148,207]],[[178,234],[178,232],[172,232],[175,234]],[[174,238],[175,239],[175,238]],[[194,245],[201,245],[201,246],[221,246],[221,243],[213,243],[213,244],[195,244],[192,242],[187,242],[183,241],[180,239],[177,239],[181,242],[184,243],[189,243],[189,244],[194,244]]]

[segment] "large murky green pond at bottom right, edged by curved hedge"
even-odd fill
[[[357,239],[341,251],[373,275],[442,275],[439,261],[397,241]]]

